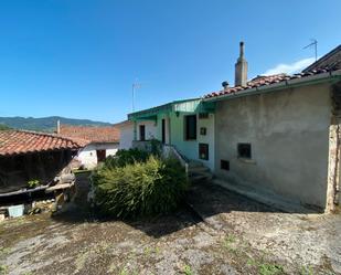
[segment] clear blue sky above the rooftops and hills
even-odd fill
[[[341,43],[341,1],[8,0],[0,2],[0,116],[119,121],[137,109],[292,72]],[[280,65],[281,64],[281,65]]]

